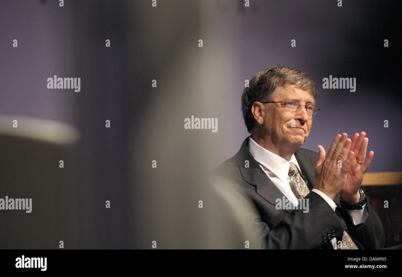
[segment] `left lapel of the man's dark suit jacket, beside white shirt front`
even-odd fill
[[[245,167],[246,162],[249,161],[249,167]],[[246,138],[236,154],[236,161],[242,173],[244,181],[256,186],[256,192],[267,200],[272,205],[276,205],[276,200],[285,196],[277,186],[269,179],[267,174],[263,172],[260,165],[252,157],[248,151],[248,138]],[[284,210],[291,213],[293,210]]]

